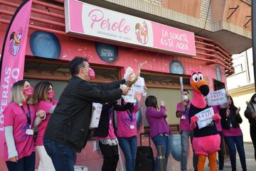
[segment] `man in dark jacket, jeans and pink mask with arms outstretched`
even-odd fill
[[[75,57],[68,67],[72,77],[50,116],[43,139],[56,171],[74,170],[75,151],[85,148],[90,132],[92,102],[114,101],[129,91],[125,79],[97,85],[88,82],[95,72],[85,57]]]

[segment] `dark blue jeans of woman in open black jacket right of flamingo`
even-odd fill
[[[246,170],[246,162],[245,162],[245,149],[243,145],[242,136],[225,136],[225,142],[228,145],[228,149],[230,151],[230,162],[231,167],[234,170],[236,168],[235,158],[236,158],[236,148],[238,149],[238,155],[240,158],[240,162],[242,165],[242,170]]]

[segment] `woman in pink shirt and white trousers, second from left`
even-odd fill
[[[46,153],[43,146],[43,134],[46,131],[46,126],[50,119],[50,114],[53,113],[58,101],[54,100],[53,84],[50,82],[38,82],[33,94],[33,104],[37,110],[46,112],[46,118],[43,120],[36,120],[34,126],[38,127],[38,136],[36,138],[36,148],[39,155],[38,171],[55,171],[53,162]]]

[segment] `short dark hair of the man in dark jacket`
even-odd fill
[[[88,62],[87,57],[78,57],[78,56],[74,57],[74,59],[68,63],[68,68],[70,70],[70,74],[78,75],[80,68],[85,67],[83,62]]]

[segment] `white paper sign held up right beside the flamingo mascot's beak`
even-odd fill
[[[226,94],[225,89],[220,89],[215,92],[209,92],[209,94],[207,95],[208,105],[216,106],[216,105],[227,103],[228,99],[225,94]]]

